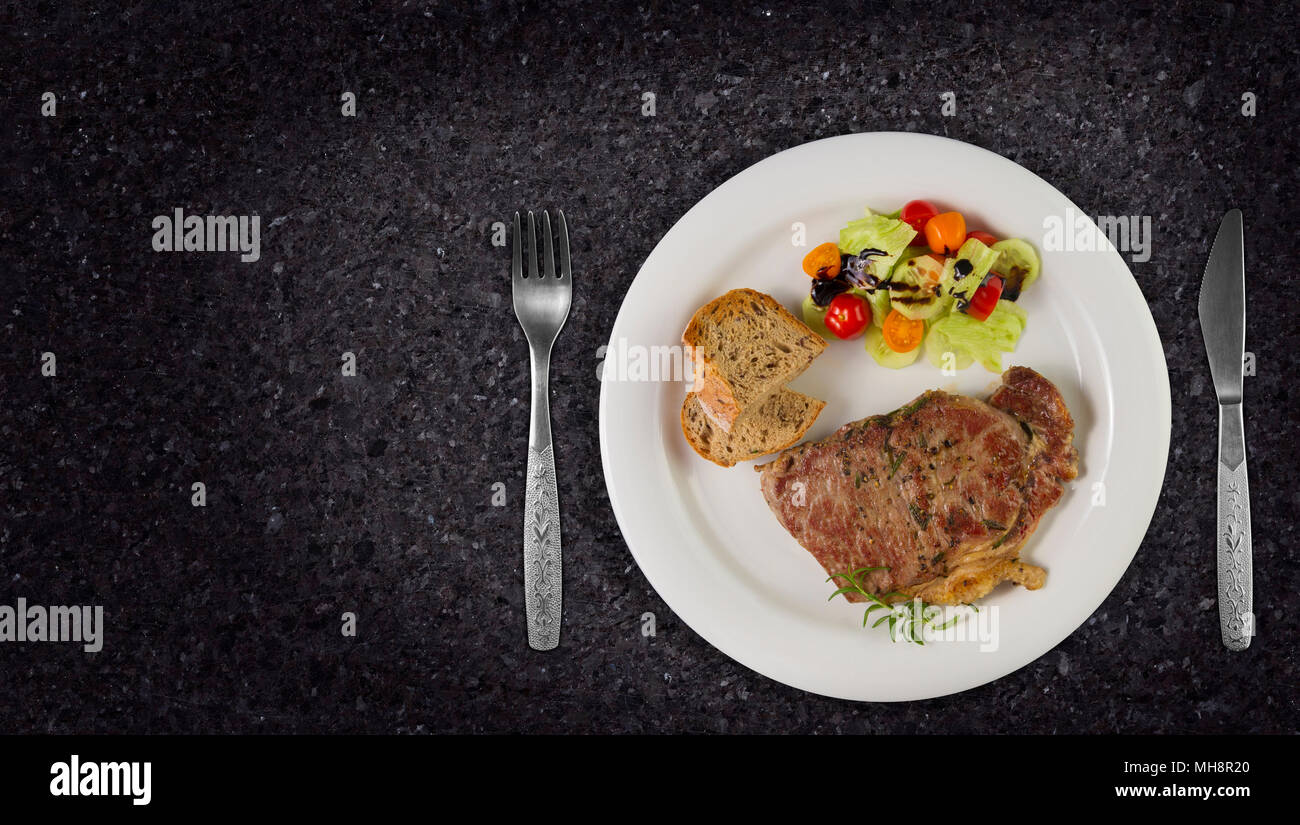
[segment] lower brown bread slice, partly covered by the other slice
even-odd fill
[[[800,440],[823,407],[826,401],[783,387],[736,418],[731,433],[723,433],[705,413],[699,396],[688,392],[681,405],[681,431],[702,457],[720,466],[733,466]]]

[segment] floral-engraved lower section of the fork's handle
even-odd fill
[[[524,609],[528,644],[554,650],[560,643],[560,507],[551,444],[528,448],[524,491]]]

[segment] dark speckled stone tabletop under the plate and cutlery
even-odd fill
[[[1294,731],[1296,6],[871,5],[6,8],[0,603],[103,604],[108,635],[95,656],[0,644],[0,729]],[[871,130],[966,140],[1091,214],[1150,216],[1132,269],[1174,403],[1158,509],[1096,615],[994,683],[889,707],[775,683],[677,620],[623,543],[597,422],[597,347],[668,227],[774,152]],[[551,379],[564,637],[534,654],[526,348],[491,225],[552,204],[580,279]],[[1260,635],[1236,655],[1195,313],[1232,205],[1258,365]],[[261,260],[155,253],[176,207],[261,216]]]

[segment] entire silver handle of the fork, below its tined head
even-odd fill
[[[533,411],[524,489],[524,612],[528,646],[549,651],[560,643],[560,505],[551,450],[550,353],[530,356]]]

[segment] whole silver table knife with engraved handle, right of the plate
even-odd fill
[[[1219,631],[1228,650],[1242,651],[1254,635],[1251,585],[1251,492],[1245,479],[1242,422],[1242,361],[1245,357],[1245,243],[1242,210],[1223,216],[1197,303],[1201,335],[1219,403],[1218,552]]]

